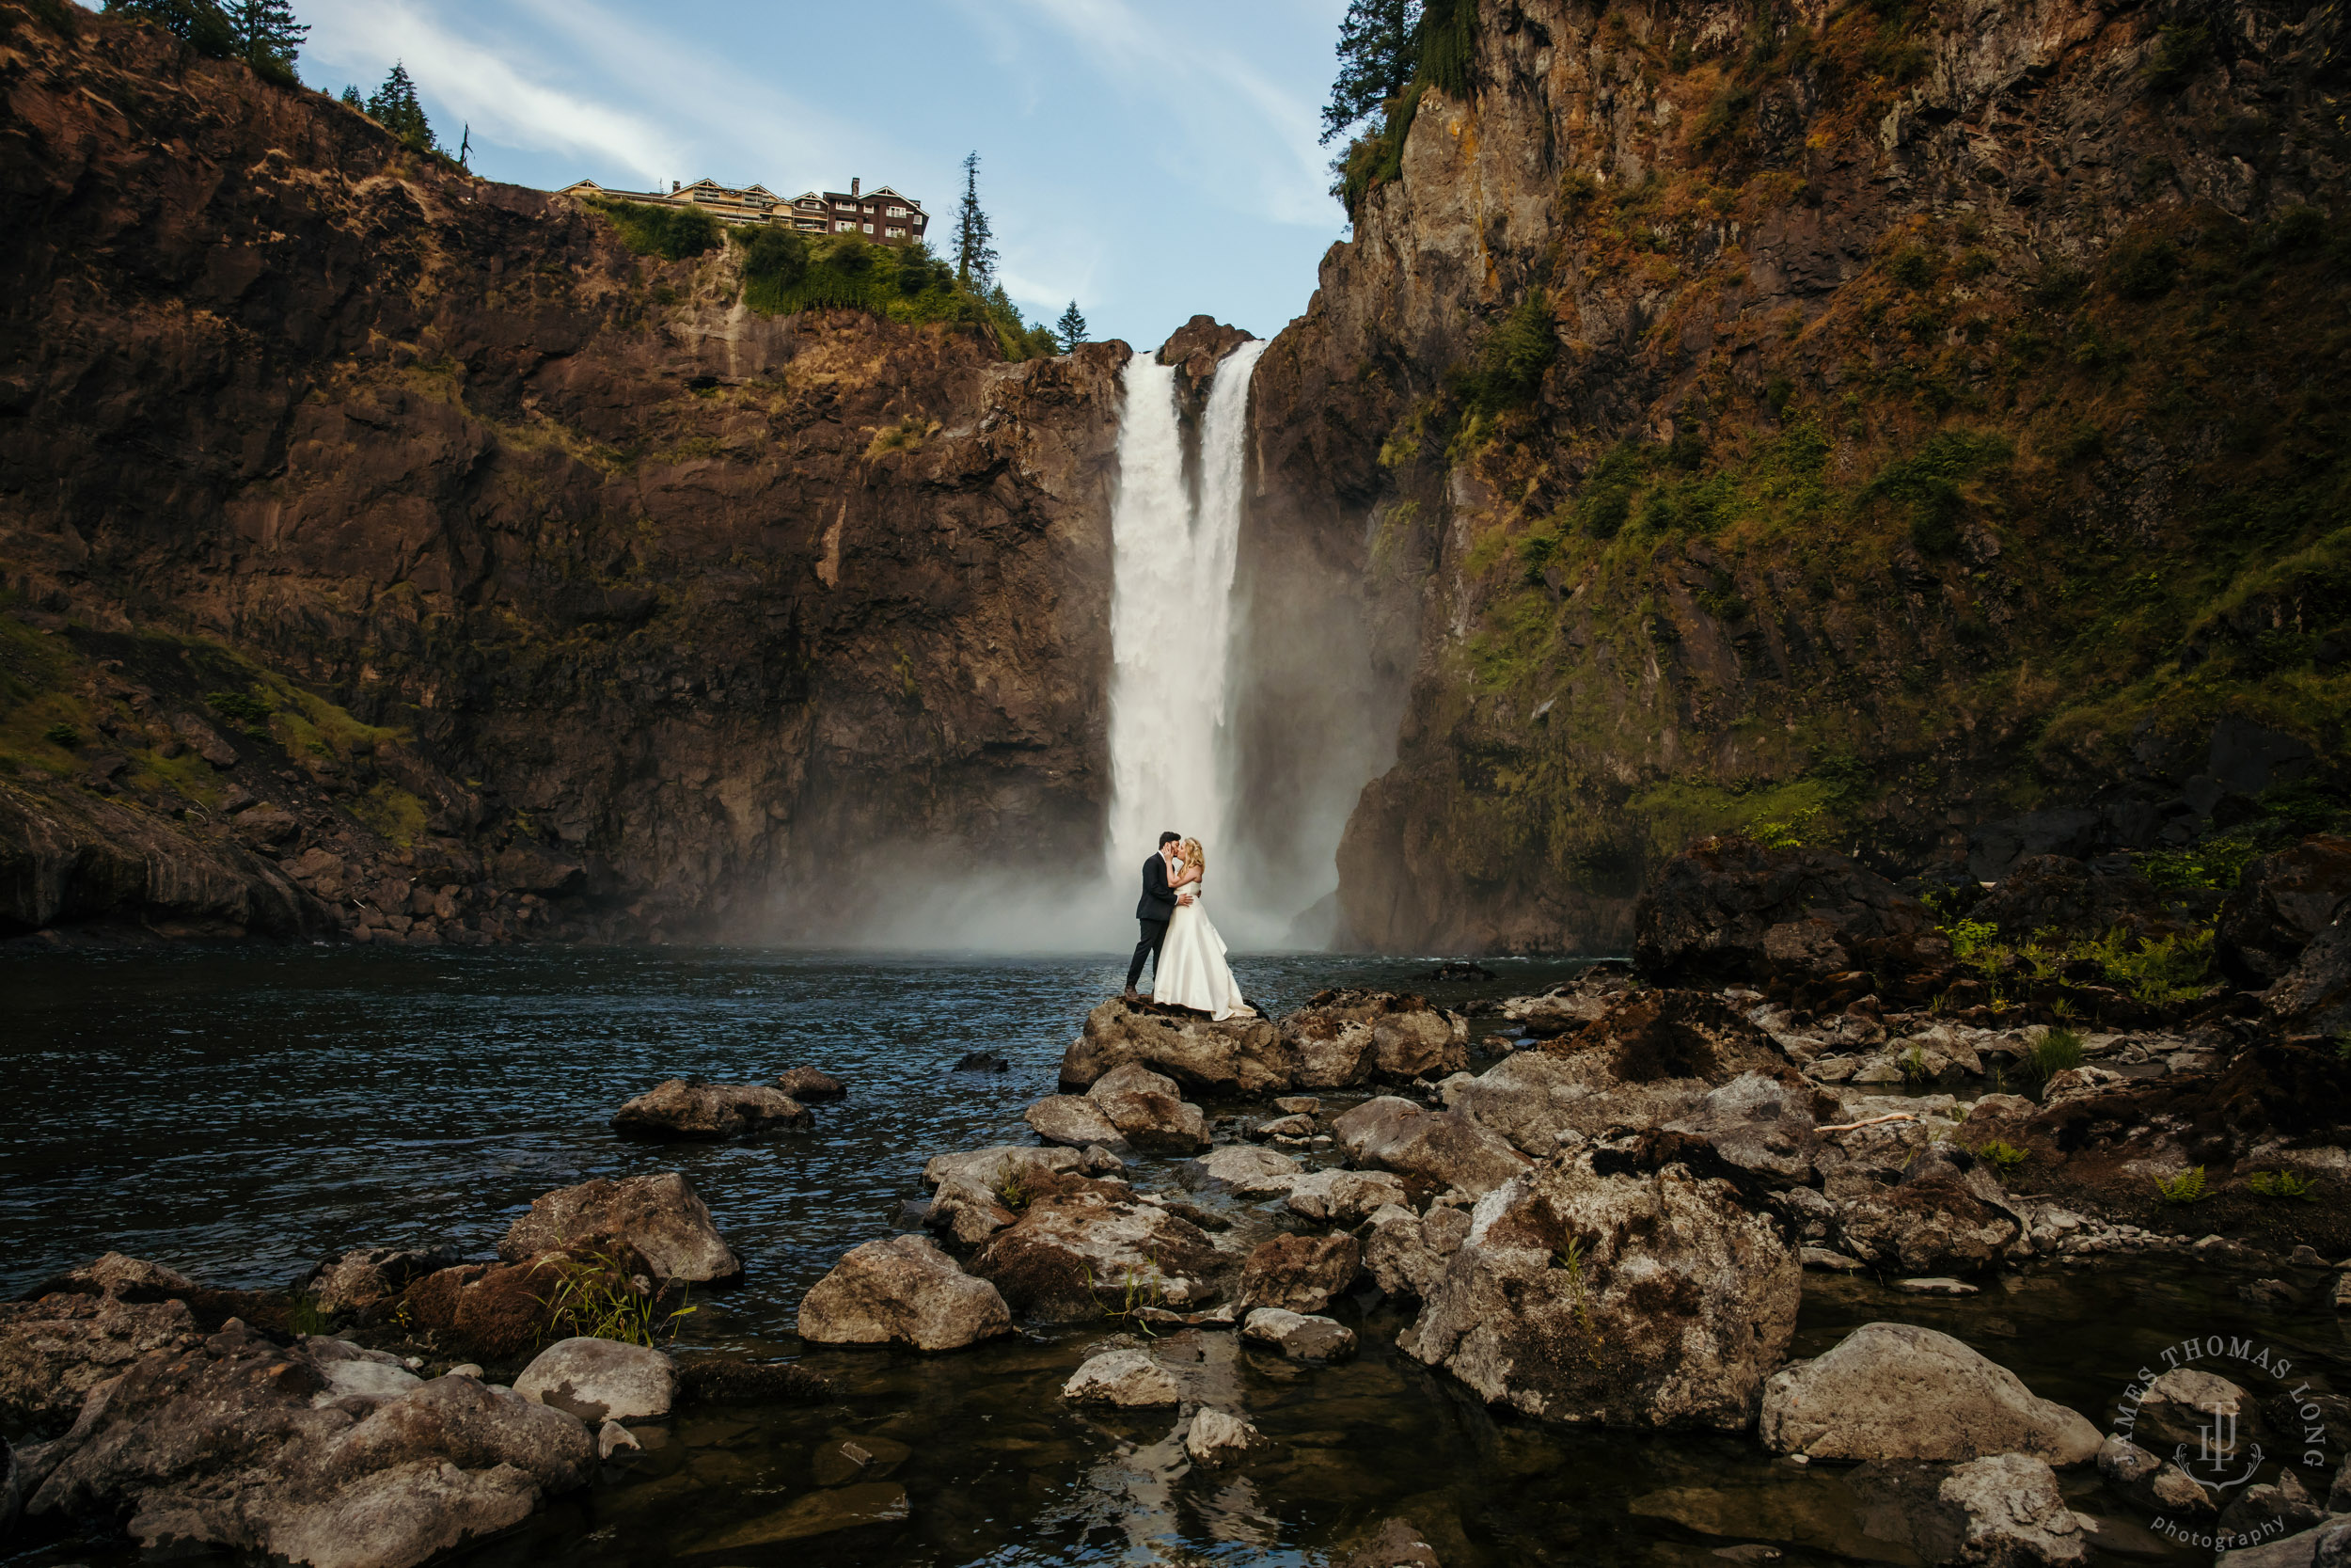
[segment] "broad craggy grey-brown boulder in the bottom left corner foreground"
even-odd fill
[[[143,1356],[40,1455],[28,1512],[129,1516],[146,1547],[411,1568],[588,1479],[571,1415],[473,1378],[334,1394],[317,1354],[230,1321]]]

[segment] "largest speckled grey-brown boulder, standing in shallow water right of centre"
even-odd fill
[[[1545,1420],[1735,1432],[1796,1331],[1801,1279],[1730,1182],[1601,1173],[1580,1150],[1476,1206],[1413,1354]]]

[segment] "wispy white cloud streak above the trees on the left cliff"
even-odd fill
[[[536,153],[574,153],[647,181],[679,165],[677,143],[651,122],[574,96],[503,59],[482,38],[458,38],[433,12],[402,0],[310,0],[308,49],[334,61],[407,63],[433,99],[484,136]],[[517,54],[531,54],[524,47]],[[536,68],[536,61],[534,61]],[[440,127],[449,132],[454,127]],[[454,143],[456,136],[449,136]]]

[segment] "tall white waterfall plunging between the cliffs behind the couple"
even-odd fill
[[[1176,369],[1136,357],[1124,371],[1119,496],[1110,512],[1107,863],[1112,886],[1128,896],[1164,827],[1199,837],[1211,867],[1215,849],[1234,842],[1232,576],[1241,552],[1248,374],[1262,353],[1262,341],[1241,343],[1215,369],[1197,503],[1185,487]]]

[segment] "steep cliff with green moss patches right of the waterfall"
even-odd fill
[[[2335,790],[2344,42],[1476,5],[1255,381],[1262,548],[1364,585],[1406,693],[1354,936],[1622,947],[1716,827],[1989,877]]]

